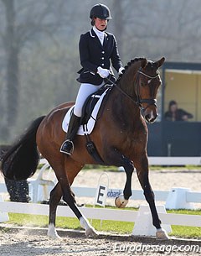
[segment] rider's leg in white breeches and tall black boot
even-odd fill
[[[75,138],[75,135],[78,131],[78,128],[80,127],[80,117],[82,114],[82,107],[85,103],[85,100],[90,94],[94,93],[95,91],[98,91],[101,88],[102,84],[100,86],[95,86],[91,84],[81,84],[80,89],[78,91],[78,95],[75,102],[75,108],[74,113],[72,114],[72,117],[70,118],[70,124],[68,131],[66,133],[66,138],[64,143],[61,145],[60,152],[64,154],[72,154],[74,150],[74,144],[73,139]]]

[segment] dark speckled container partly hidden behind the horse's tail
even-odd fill
[[[0,145],[0,159],[5,154],[9,145]],[[10,201],[28,202],[30,197],[28,196],[28,181],[27,180],[8,180],[4,177],[5,184],[7,186]]]

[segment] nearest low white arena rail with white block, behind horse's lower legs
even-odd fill
[[[101,222],[110,220],[135,223],[132,231],[132,235],[134,236],[155,236],[156,229],[152,226],[152,217],[148,206],[140,206],[138,211],[90,207],[79,208],[88,219],[98,219]],[[157,210],[160,210],[160,208],[162,206],[157,206]],[[34,203],[0,201],[0,219],[1,215],[7,214],[7,212],[48,216],[49,206]],[[171,225],[201,227],[201,216],[198,215],[166,213],[164,210],[162,212],[158,211],[158,215],[162,221],[162,227],[168,233],[172,232]],[[57,216],[75,217],[69,206],[58,206]],[[4,219],[5,221],[8,221],[8,219]]]

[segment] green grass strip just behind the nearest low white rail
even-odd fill
[[[113,208],[113,207],[110,207]],[[127,210],[134,210],[136,208],[126,208]],[[179,213],[179,214],[191,214],[191,215],[201,215],[201,210],[191,211],[191,210],[171,210],[167,211],[168,213]],[[47,216],[36,216],[28,214],[18,214],[18,213],[9,213],[9,222],[13,225],[18,226],[28,226],[28,227],[48,227],[48,217]],[[114,221],[101,221],[93,220],[93,227],[97,231],[104,232],[116,232],[121,234],[131,234],[133,229],[133,223],[131,222],[114,222]],[[80,230],[80,222],[77,218],[74,217],[57,217],[56,227],[60,228],[69,228],[69,229],[78,229]],[[172,226],[173,232],[171,236],[179,238],[201,238],[201,227],[184,227],[184,226]]]

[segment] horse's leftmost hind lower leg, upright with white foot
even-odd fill
[[[49,238],[59,238],[59,235],[55,229],[56,209],[62,196],[62,191],[59,183],[54,186],[54,189],[50,192],[49,198]]]

